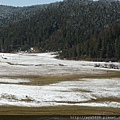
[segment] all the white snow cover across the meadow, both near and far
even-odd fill
[[[120,78],[78,79],[45,86],[20,85],[19,83],[28,83],[31,80],[10,78],[22,75],[102,74],[109,70],[94,67],[95,64],[104,65],[104,62],[59,60],[54,57],[51,53],[0,53],[0,105],[120,108],[120,102],[115,100],[120,99]],[[120,66],[120,63],[114,64]],[[104,98],[104,101],[100,100],[101,98]]]

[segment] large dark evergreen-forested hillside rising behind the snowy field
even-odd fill
[[[120,1],[64,0],[34,12],[0,29],[1,52],[33,47],[67,59],[120,61]]]

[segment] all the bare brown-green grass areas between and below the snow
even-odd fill
[[[3,76],[4,77],[4,76]],[[21,83],[26,85],[48,85],[61,81],[74,81],[80,78],[120,78],[120,72],[106,72],[96,75],[65,75],[65,76],[12,76],[11,78],[28,78],[30,83]],[[117,101],[120,99],[103,98],[95,102]],[[94,100],[93,100],[94,101]],[[93,102],[89,101],[89,102]],[[82,107],[82,106],[56,106],[56,107],[15,107],[0,106],[0,115],[120,115],[119,108],[107,107]]]

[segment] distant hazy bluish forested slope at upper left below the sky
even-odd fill
[[[46,7],[47,5],[35,5],[29,7],[12,7],[0,5],[0,28],[29,18]]]

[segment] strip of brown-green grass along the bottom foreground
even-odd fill
[[[120,109],[82,106],[0,107],[0,115],[120,115]]]

